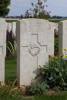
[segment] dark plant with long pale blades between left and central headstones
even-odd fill
[[[7,56],[15,56],[16,55],[16,39],[13,37],[12,31],[7,31]]]

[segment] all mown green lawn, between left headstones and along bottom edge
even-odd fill
[[[6,81],[14,81],[16,79],[16,59],[15,58],[7,58],[6,59]],[[36,96],[32,98],[24,98],[24,97],[0,97],[0,100],[67,100],[67,92],[58,94],[58,95],[42,95]]]

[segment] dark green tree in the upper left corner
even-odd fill
[[[8,15],[9,5],[10,5],[10,0],[0,0],[0,17],[5,17],[6,15]]]

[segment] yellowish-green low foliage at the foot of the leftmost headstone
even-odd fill
[[[17,96],[18,95],[18,87],[15,87],[16,80],[11,84],[1,86],[0,85],[0,97],[7,96]]]

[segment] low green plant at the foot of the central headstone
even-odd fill
[[[26,87],[27,95],[40,95],[44,94],[45,90],[49,88],[46,83],[32,83],[30,86]]]

